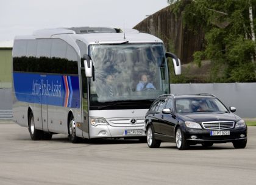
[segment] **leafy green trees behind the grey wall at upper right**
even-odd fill
[[[204,30],[205,48],[193,56],[199,66],[204,59],[212,61],[211,82],[256,82],[256,0],[168,2],[172,12],[182,12],[185,26]]]

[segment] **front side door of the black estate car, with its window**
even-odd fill
[[[165,108],[170,108],[173,111],[173,100],[168,99]],[[175,125],[177,124],[177,119],[173,114],[161,113],[162,119],[162,133],[169,138],[175,138]]]

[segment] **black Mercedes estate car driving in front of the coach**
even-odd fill
[[[235,148],[247,143],[247,126],[212,94],[163,94],[151,105],[145,119],[148,146],[160,147],[162,141],[176,142],[179,150],[190,145],[210,147],[232,142]]]

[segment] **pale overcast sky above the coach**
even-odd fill
[[[0,41],[52,27],[132,28],[167,0],[0,0]]]

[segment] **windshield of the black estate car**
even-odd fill
[[[177,99],[177,113],[227,112],[227,108],[216,98],[182,98]]]

